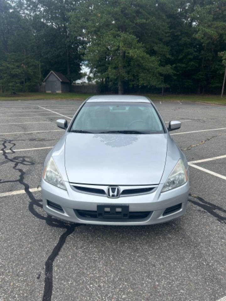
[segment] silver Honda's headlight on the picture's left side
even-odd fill
[[[46,164],[46,167],[44,168],[43,171],[43,179],[59,188],[67,190],[64,181],[61,177],[60,172],[58,171],[56,164],[53,161],[53,158],[51,157],[48,163]]]

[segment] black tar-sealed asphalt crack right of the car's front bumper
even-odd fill
[[[218,210],[220,212],[222,212],[223,214],[226,214],[226,210],[213,204],[210,202],[205,201],[203,198],[198,197],[196,194],[194,193],[189,193],[189,196],[192,198],[195,198],[197,201],[191,200],[189,199],[189,201],[196,205],[199,206],[200,208],[204,209],[206,212],[208,212],[209,214],[211,214],[212,216],[214,216],[220,223],[222,224],[226,224],[226,216],[222,216],[220,214],[218,214],[215,210]]]

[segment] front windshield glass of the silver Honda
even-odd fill
[[[163,125],[151,103],[87,102],[74,119],[71,132],[159,134]]]

